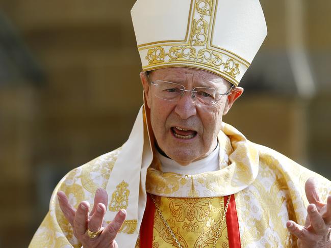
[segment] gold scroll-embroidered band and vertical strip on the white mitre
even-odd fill
[[[178,62],[184,62],[187,67],[196,65],[198,68],[207,68],[221,74],[237,86],[239,81],[236,76],[241,73],[241,69],[245,70],[243,67],[248,68],[249,63],[230,51],[224,52],[222,48],[212,48],[211,24],[215,19],[216,5],[217,1],[214,0],[192,0],[189,15],[190,31],[186,41],[177,43],[160,41],[154,46],[139,46],[139,51],[147,49],[145,59],[148,65],[143,66],[143,70],[164,68],[167,65],[179,66]]]

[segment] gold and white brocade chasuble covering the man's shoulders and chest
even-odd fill
[[[150,148],[143,117],[141,110],[133,133],[121,148],[72,170],[59,182],[50,200],[49,212],[29,247],[81,247],[60,210],[56,197],[59,190],[64,191],[69,203],[77,207],[84,200],[93,206],[95,190],[106,188],[109,202],[105,220],[112,221],[120,208],[128,212],[116,237],[120,248],[139,245],[136,243],[143,215],[148,213],[146,191],[156,196],[165,219],[177,238],[183,241],[183,247],[190,248],[212,247],[214,229],[218,227],[220,211],[224,209],[223,197],[226,199],[230,195],[235,206],[230,208],[235,210],[232,221],[235,219],[234,223],[238,225],[236,237],[240,247],[296,247],[286,222],[291,219],[304,224],[308,206],[305,181],[309,177],[317,179],[323,202],[331,192],[331,182],[324,177],[282,154],[247,141],[243,134],[225,123],[218,136],[220,170],[198,175],[162,173],[155,160],[147,170],[152,156],[148,153]],[[144,134],[136,135],[134,130]],[[162,225],[154,214],[150,247],[175,247]],[[234,233],[232,226],[226,219],[217,247],[232,248],[232,235],[229,234],[229,230]]]

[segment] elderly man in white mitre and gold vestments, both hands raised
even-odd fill
[[[129,140],[60,181],[30,246],[331,247],[331,182],[222,122],[266,36],[258,0],[138,0],[132,17]]]

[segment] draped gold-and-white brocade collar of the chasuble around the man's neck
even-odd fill
[[[258,149],[225,123],[217,139],[220,170],[197,175],[164,173],[155,156],[147,170],[146,191],[164,197],[200,198],[230,196],[248,187],[258,176]]]

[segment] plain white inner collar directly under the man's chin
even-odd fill
[[[172,172],[181,175],[196,175],[205,172],[213,172],[219,170],[219,145],[215,150],[209,154],[207,157],[200,160],[191,162],[187,166],[181,166],[175,160],[163,156],[159,151],[157,151],[158,157],[162,164],[163,172]]]

